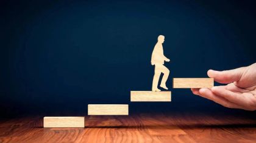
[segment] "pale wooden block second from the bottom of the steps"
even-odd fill
[[[129,105],[88,104],[88,115],[129,115]]]

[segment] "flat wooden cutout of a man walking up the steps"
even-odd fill
[[[155,74],[152,82],[152,91],[161,91],[160,89],[157,88],[161,73],[163,73],[163,78],[162,78],[160,87],[168,90],[168,88],[166,87],[166,81],[169,76],[169,70],[163,64],[165,64],[165,61],[169,62],[170,60],[166,58],[165,55],[163,55],[162,44],[165,41],[165,36],[159,35],[157,40],[158,40],[157,44],[155,44],[155,47],[151,56],[151,64],[155,65]]]

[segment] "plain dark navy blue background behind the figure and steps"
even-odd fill
[[[82,115],[87,104],[130,113],[237,111],[172,89],[256,61],[254,1],[1,1],[1,116]],[[172,102],[130,102],[151,90],[158,35]],[[240,110],[239,110],[240,111]],[[245,111],[240,111],[245,112]]]

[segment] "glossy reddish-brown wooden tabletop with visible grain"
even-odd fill
[[[43,116],[27,116],[1,119],[0,142],[256,142],[256,116],[85,116],[85,128],[43,128]]]

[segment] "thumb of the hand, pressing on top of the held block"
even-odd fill
[[[233,70],[224,70],[224,71],[216,71],[216,70],[208,70],[207,75],[210,78],[214,78],[216,82],[221,84],[229,84],[231,82],[239,81],[241,76],[243,75],[244,67],[235,68]]]

